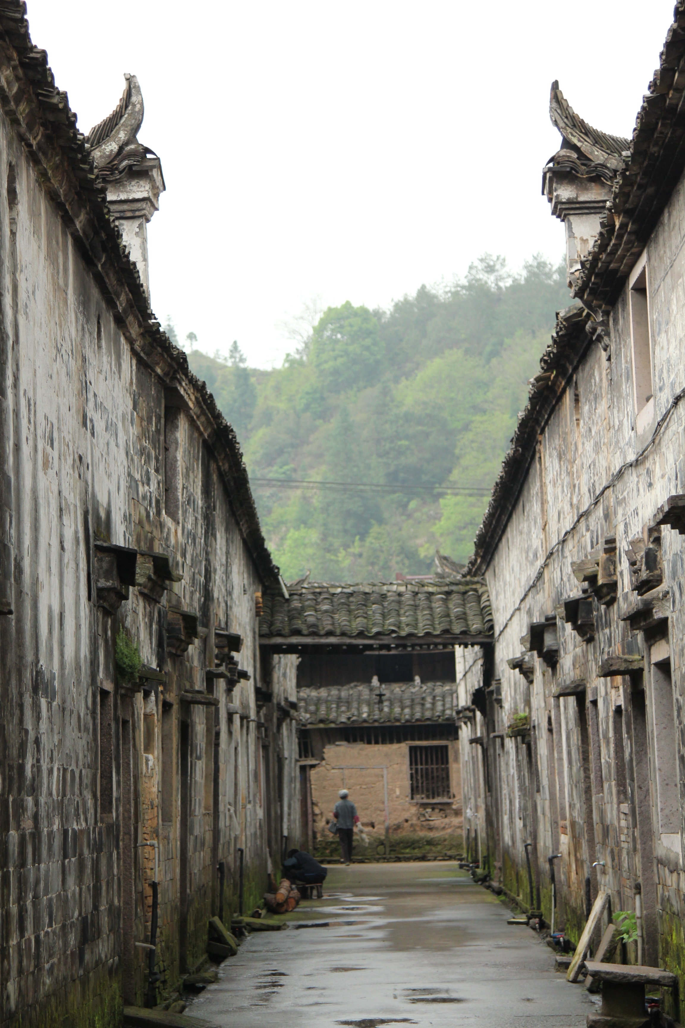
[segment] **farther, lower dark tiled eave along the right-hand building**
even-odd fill
[[[483,575],[506,527],[528,469],[535,460],[541,434],[560,396],[582,360],[593,337],[589,313],[579,302],[557,311],[557,328],[540,358],[540,373],[531,378],[528,403],[519,413],[511,445],[492,488],[488,505],[473,544],[468,564],[471,575]]]

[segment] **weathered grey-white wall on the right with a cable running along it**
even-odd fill
[[[524,843],[532,841],[548,919],[547,857],[561,852],[562,919],[577,938],[586,877],[593,894],[609,890],[614,911],[633,909],[640,882],[644,960],[658,960],[679,974],[685,914],[685,567],[682,537],[668,524],[655,525],[655,519],[669,497],[684,491],[685,413],[679,402],[685,387],[684,204],[681,180],[646,251],[651,407],[638,421],[626,283],[610,317],[610,359],[593,343],[566,383],[487,567],[495,618],[493,667],[484,669],[477,660],[457,676],[460,703],[471,704],[462,720],[462,743],[467,735],[483,734],[485,759],[495,772],[489,813],[466,774],[464,806],[479,811],[481,832],[491,834],[490,858],[493,867],[501,864],[504,883],[528,898]],[[648,541],[648,526],[649,540],[656,539],[662,553],[656,592],[668,589],[667,610],[645,630],[632,631],[624,618],[640,597],[632,588],[625,549],[643,531]],[[602,544],[610,553],[614,536],[616,599],[606,605],[592,600],[594,637],[583,640],[559,607],[580,593],[571,562]],[[547,662],[529,652],[526,636],[532,623],[555,613],[558,660]],[[530,682],[507,665],[522,650],[529,652]],[[629,655],[644,655],[644,671],[603,676],[603,660]],[[563,695],[578,680],[584,685]],[[477,703],[472,697],[480,687],[490,692]],[[503,738],[517,714],[529,715],[528,730]],[[462,760],[464,749],[462,744]],[[670,766],[668,781],[660,767],[676,749],[679,770]],[[661,794],[670,792],[673,799],[674,791],[677,813],[665,816]]]

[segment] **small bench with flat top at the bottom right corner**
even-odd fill
[[[645,986],[671,989],[677,979],[670,970],[586,960],[587,974],[602,983],[602,1009],[587,1015],[587,1028],[649,1028]]]

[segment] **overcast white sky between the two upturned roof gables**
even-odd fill
[[[674,0],[28,0],[31,36],[83,132],[123,73],[166,192],[152,305],[180,338],[253,366],[320,296],[387,306],[485,251],[557,260],[540,195],[559,148],[549,83],[629,136]]]

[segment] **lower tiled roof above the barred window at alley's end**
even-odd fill
[[[457,687],[453,682],[352,683],[298,689],[302,726],[379,725],[454,721]]]

